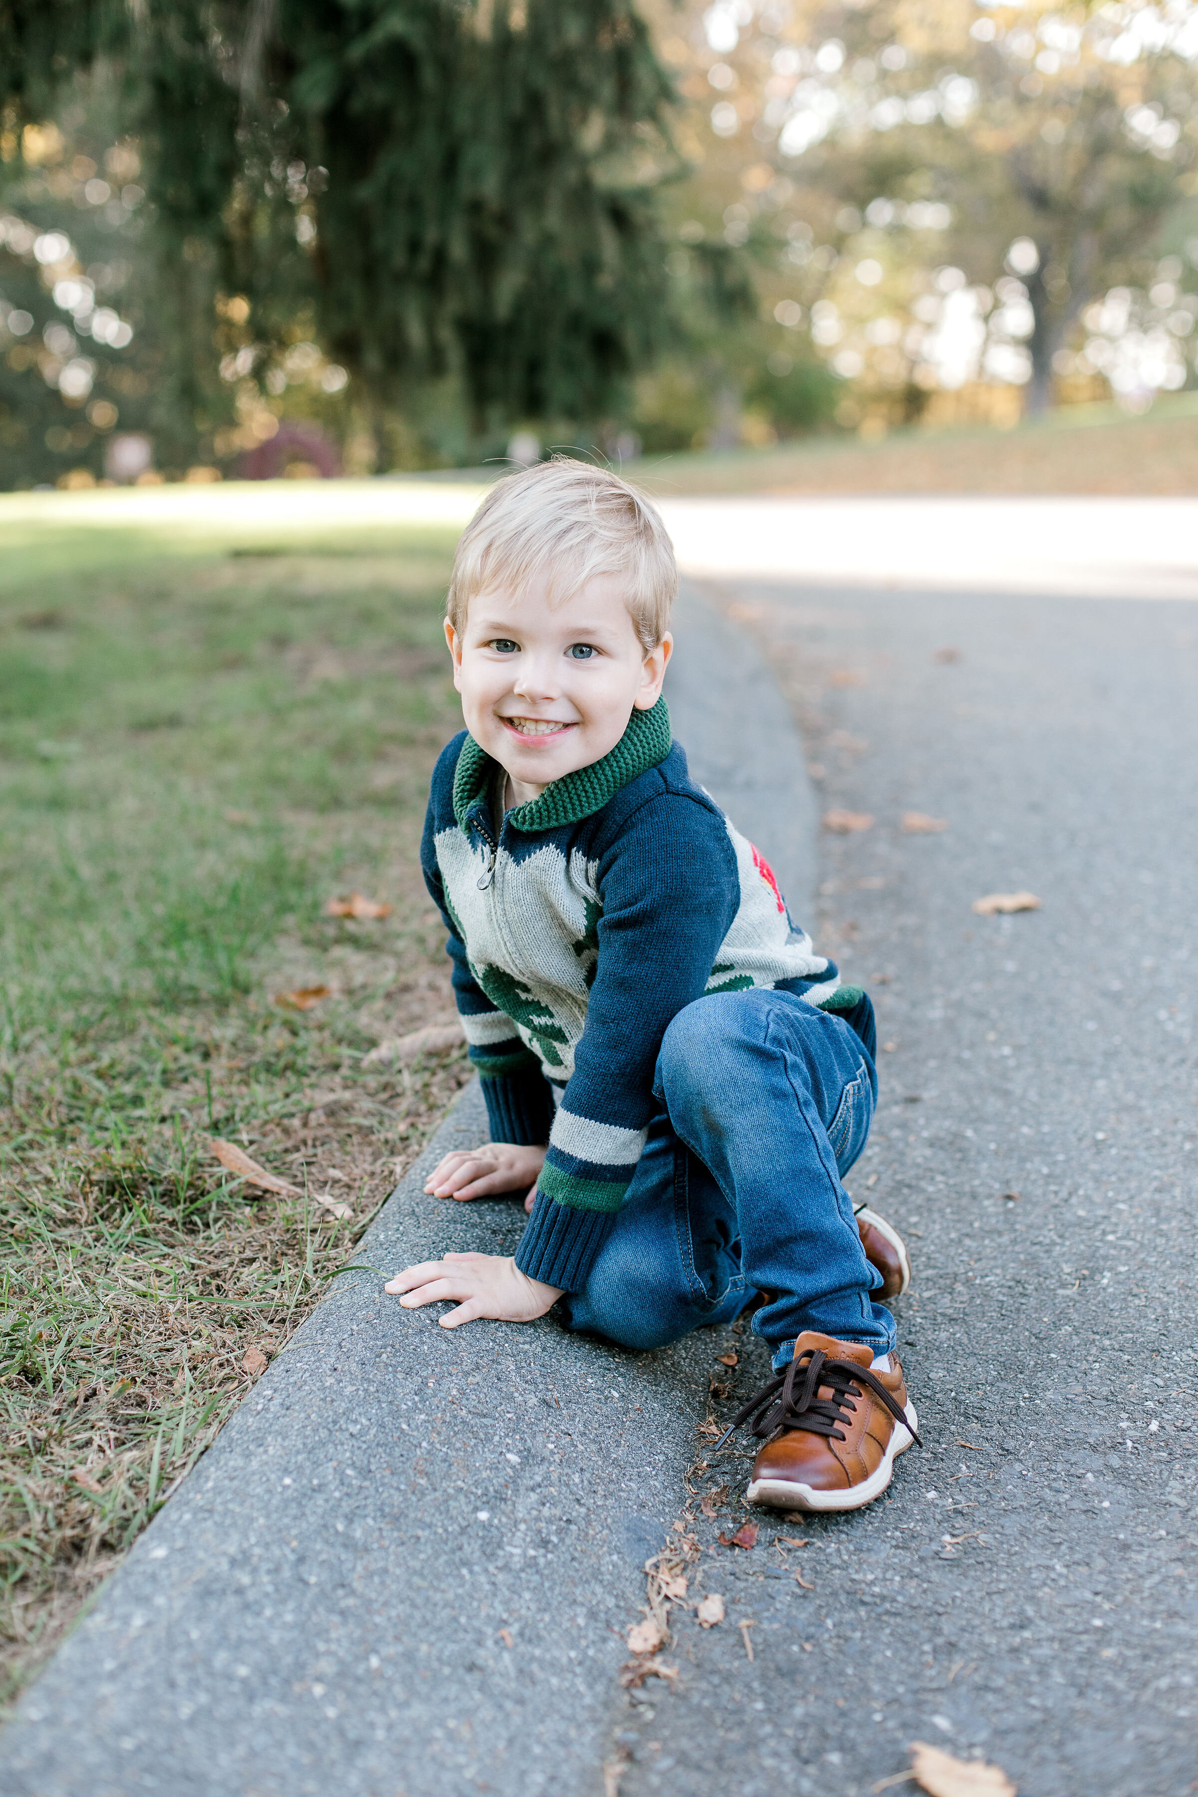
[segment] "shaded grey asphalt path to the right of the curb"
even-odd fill
[[[614,1718],[621,1792],[864,1797],[925,1739],[1024,1797],[1182,1797],[1198,606],[713,593],[769,645],[823,807],[875,819],[824,834],[817,934],[878,1003],[848,1184],[911,1240],[925,1447],[860,1515],[771,1520],[749,1553],[699,1526],[691,1592],[727,1623],[675,1608],[675,1695]],[[903,832],[907,810],[945,828]],[[972,911],[1018,890],[1042,907]],[[758,1373],[742,1353],[722,1414]],[[697,1490],[724,1479],[713,1461]]]

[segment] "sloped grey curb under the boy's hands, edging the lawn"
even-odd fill
[[[681,613],[679,739],[810,918],[815,810],[785,704],[700,595]],[[634,1357],[551,1317],[447,1333],[386,1299],[399,1265],[515,1244],[517,1206],[420,1193],[483,1136],[469,1087],[363,1238],[370,1270],[336,1283],[18,1705],[11,1797],[600,1788],[709,1344]]]

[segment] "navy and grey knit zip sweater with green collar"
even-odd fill
[[[837,1010],[862,994],[837,990],[767,861],[691,782],[663,699],[496,832],[501,776],[467,731],[444,749],[424,877],[449,927],[492,1139],[548,1143],[515,1263],[577,1292],[657,1109],[672,1017],[749,987]]]

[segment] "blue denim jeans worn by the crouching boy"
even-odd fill
[[[803,1330],[894,1346],[869,1297],[882,1274],[841,1184],[866,1145],[878,1076],[842,1017],[792,992],[717,992],[661,1042],[661,1105],[623,1206],[562,1321],[625,1348],[663,1348],[731,1323],[754,1292],[753,1330],[774,1368]]]

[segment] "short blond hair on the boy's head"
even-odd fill
[[[458,543],[449,622],[462,633],[476,593],[521,586],[546,570],[557,600],[573,598],[595,575],[618,575],[645,654],[670,627],[679,577],[666,527],[643,494],[605,467],[553,456],[498,482]]]

